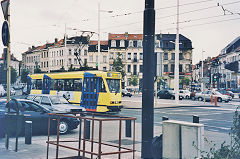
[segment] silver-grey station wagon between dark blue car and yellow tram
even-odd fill
[[[76,106],[69,103],[63,96],[49,94],[34,94],[26,96],[26,99],[32,100],[41,105],[52,107],[63,112],[82,112],[86,109],[82,106]]]

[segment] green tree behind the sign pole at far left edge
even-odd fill
[[[7,84],[7,70],[4,70],[3,64],[0,64],[0,83]],[[17,81],[17,71],[11,67],[11,83],[15,83]]]

